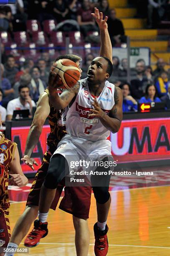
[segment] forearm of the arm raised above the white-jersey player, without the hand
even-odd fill
[[[110,41],[108,29],[100,30],[100,40],[100,56],[107,57],[112,62],[112,44]]]

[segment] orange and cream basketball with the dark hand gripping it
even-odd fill
[[[53,85],[69,89],[80,79],[80,69],[74,61],[69,59],[59,59],[54,62],[51,71]]]

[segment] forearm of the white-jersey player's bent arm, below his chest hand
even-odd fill
[[[101,123],[112,133],[119,131],[121,121],[116,118],[110,118],[107,114],[104,114],[103,118],[100,118]]]

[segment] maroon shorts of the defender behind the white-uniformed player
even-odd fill
[[[50,158],[52,153],[47,151],[43,156],[43,161],[33,180],[32,187],[28,195],[26,205],[39,205],[40,189],[47,174]],[[56,210],[61,192],[65,186],[64,179],[58,185],[55,198],[51,204],[51,209]],[[77,218],[89,218],[91,202],[91,187],[65,187],[64,197],[61,200],[59,208],[69,212]]]

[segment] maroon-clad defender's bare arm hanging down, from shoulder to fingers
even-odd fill
[[[22,161],[25,161],[25,164],[30,166],[33,170],[34,170],[33,164],[35,165],[38,165],[38,164],[33,158],[30,158],[30,156],[33,152],[34,147],[37,145],[39,141],[39,137],[41,135],[43,125],[49,113],[50,113],[49,97],[46,92],[43,92],[43,94],[40,96],[38,100],[36,112],[33,118],[33,123],[30,126],[30,131],[28,133],[28,137],[26,141],[24,157],[21,159]]]

